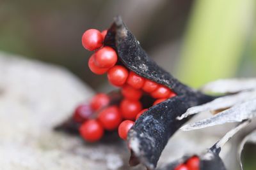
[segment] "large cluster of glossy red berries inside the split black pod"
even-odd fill
[[[98,94],[92,99],[90,108],[99,111],[97,119],[86,120],[81,125],[79,131],[86,141],[97,141],[104,134],[104,129],[113,131],[118,129],[120,138],[126,139],[127,132],[141,114],[147,111],[143,108],[140,99],[143,94],[156,99],[153,105],[163,102],[164,100],[176,96],[168,87],[160,85],[154,81],[147,80],[138,74],[129,71],[122,64],[117,65],[118,56],[116,51],[110,46],[104,46],[103,41],[107,31],[98,31],[89,29],[84,32],[82,43],[86,50],[95,51],[88,61],[90,70],[95,74],[108,74],[109,82],[115,87],[120,87],[123,99],[119,106],[108,106],[109,97],[106,94]],[[84,107],[84,108],[83,108]],[[81,121],[84,115],[81,110],[88,113],[85,117],[92,114],[88,111],[89,106],[79,106],[74,114],[74,120]],[[122,122],[122,120],[124,120]]]

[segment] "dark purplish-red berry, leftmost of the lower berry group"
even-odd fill
[[[92,115],[92,109],[88,104],[80,104],[77,106],[73,118],[76,122],[82,123]]]

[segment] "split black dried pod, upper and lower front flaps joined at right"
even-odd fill
[[[149,108],[129,131],[128,143],[132,151],[130,164],[134,166],[142,163],[148,169],[154,169],[168,139],[190,118],[177,120],[176,117],[185,113],[191,106],[207,103],[214,97],[191,89],[157,66],[120,17],[115,18],[108,30],[104,45],[115,48],[118,60],[130,71],[169,87],[177,94]]]

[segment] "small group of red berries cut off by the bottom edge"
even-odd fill
[[[189,158],[184,164],[180,164],[175,167],[174,170],[199,170],[200,169],[200,160],[198,157],[194,156]]]

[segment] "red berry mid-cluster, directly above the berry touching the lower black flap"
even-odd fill
[[[129,120],[134,120],[136,115],[141,111],[142,106],[140,101],[131,101],[128,99],[124,99],[120,103],[120,111],[122,117]]]

